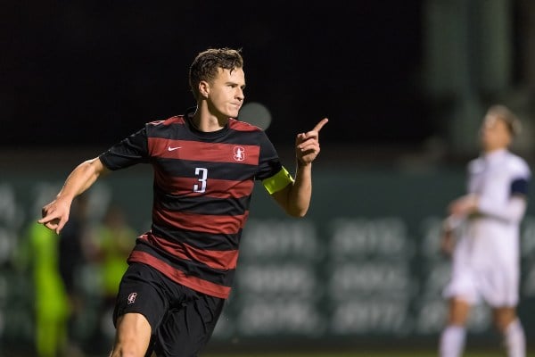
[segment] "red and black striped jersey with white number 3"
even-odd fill
[[[282,169],[266,133],[230,119],[202,132],[186,115],[145,124],[100,155],[110,170],[152,164],[152,227],[128,262],[144,262],[207,295],[227,298],[254,180]]]

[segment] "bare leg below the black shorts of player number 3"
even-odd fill
[[[111,357],[143,357],[151,342],[151,325],[140,313],[129,312],[117,319],[117,331]]]

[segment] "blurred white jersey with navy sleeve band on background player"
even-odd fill
[[[473,266],[517,264],[523,212],[512,214],[511,200],[527,195],[531,170],[507,150],[481,155],[468,164],[467,188],[479,197],[479,212],[468,220],[463,239]]]

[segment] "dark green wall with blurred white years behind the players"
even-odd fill
[[[12,167],[0,177],[0,341],[5,351],[33,344],[35,296],[16,256],[25,227],[71,169]],[[152,172],[145,169],[119,171],[97,182],[89,191],[92,220],[101,219],[110,203],[119,203],[130,224],[144,232],[152,203]],[[449,260],[439,251],[440,222],[449,200],[464,191],[464,179],[463,166],[416,171],[318,166],[312,205],[301,220],[285,217],[264,188],[255,187],[235,289],[210,345],[435,344],[446,312],[440,291],[449,276]],[[519,312],[527,340],[534,341],[532,206],[523,221],[522,246]],[[88,267],[81,279],[88,295],[95,294],[92,274]],[[99,328],[93,315],[88,311],[82,323],[87,345],[95,345]],[[496,339],[490,318],[485,306],[473,311],[473,341]]]

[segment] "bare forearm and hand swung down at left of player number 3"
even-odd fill
[[[69,220],[72,200],[91,187],[96,179],[107,171],[99,158],[80,163],[70,172],[56,198],[43,207],[43,218],[37,220],[37,222],[44,224],[46,228],[54,230],[56,234],[60,234]]]

